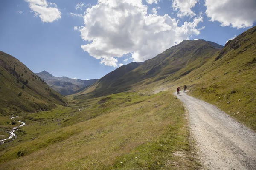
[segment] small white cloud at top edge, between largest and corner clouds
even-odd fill
[[[172,9],[178,11],[178,17],[195,16],[195,13],[191,10],[197,3],[197,0],[172,0]]]

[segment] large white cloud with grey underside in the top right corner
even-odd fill
[[[256,21],[256,0],[205,0],[206,14],[210,21],[221,26],[246,28]]]

